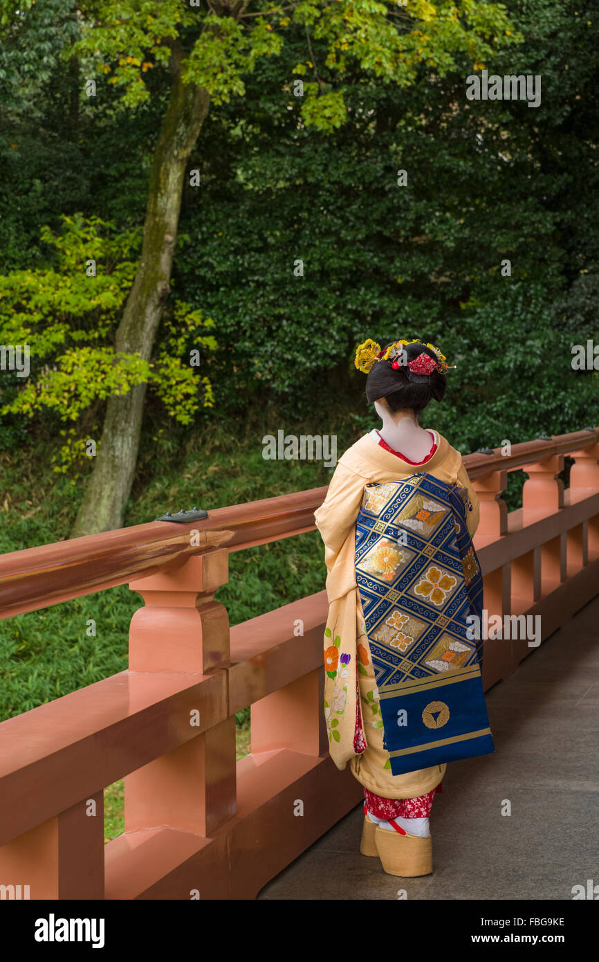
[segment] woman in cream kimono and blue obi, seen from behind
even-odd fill
[[[356,367],[382,426],[345,451],[314,514],[330,604],[325,717],[337,768],[349,761],[363,787],[362,854],[424,875],[446,762],[493,750],[468,620],[482,608],[479,502],[460,452],[418,424],[445,392],[440,351],[367,341]]]

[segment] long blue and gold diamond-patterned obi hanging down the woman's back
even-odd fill
[[[483,608],[468,507],[426,472],[364,488],[356,579],[395,775],[494,751],[483,642],[467,632]]]

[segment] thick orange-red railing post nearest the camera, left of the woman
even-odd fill
[[[226,548],[193,555],[185,565],[137,578],[145,601],[131,622],[130,671],[206,674],[230,664],[229,618],[214,601],[228,580]],[[224,679],[226,683],[226,679]],[[198,719],[182,724],[204,726]],[[175,721],[175,720],[173,720]],[[235,716],[125,778],[125,829],[166,825],[210,835],[236,814]]]

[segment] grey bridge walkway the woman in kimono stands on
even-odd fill
[[[598,635],[596,597],[487,692],[495,754],[448,766],[432,875],[395,878],[362,856],[359,805],[259,899],[572,899],[598,884]]]

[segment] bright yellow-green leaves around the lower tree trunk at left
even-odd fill
[[[13,379],[8,399],[0,391],[0,413],[34,418],[49,410],[62,422],[76,423],[82,430],[69,430],[68,443],[55,455],[57,470],[85,457],[86,416],[99,402],[136,384],[149,383],[169,416],[183,424],[198,407],[198,389],[204,405],[212,406],[210,379],[195,375],[185,346],[216,348],[213,336],[203,333],[213,327],[212,318],[176,301],[154,362],[116,350],[114,333],[137,270],[130,257],[140,231],[116,232],[99,217],[63,216],[62,221],[60,234],[48,227],[41,233],[54,251],[54,266],[0,276],[0,342],[28,344],[33,357],[32,376],[20,385]],[[89,276],[92,261],[97,273]]]

